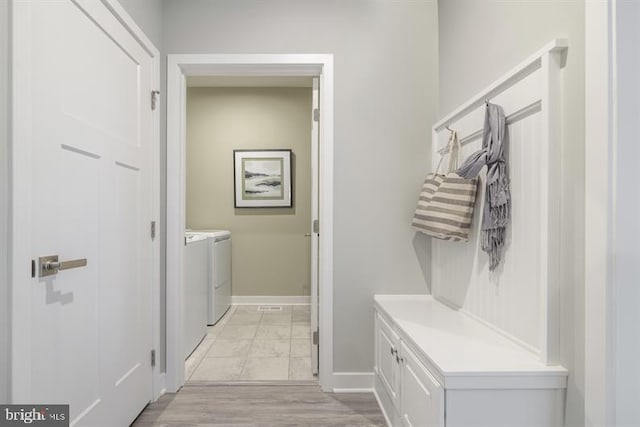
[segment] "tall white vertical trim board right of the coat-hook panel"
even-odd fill
[[[585,4],[585,426],[615,425],[615,0]]]

